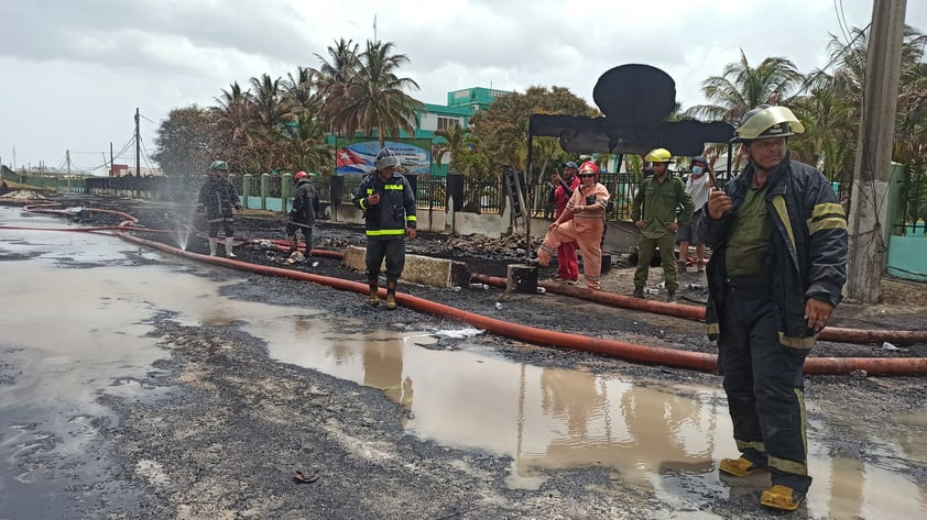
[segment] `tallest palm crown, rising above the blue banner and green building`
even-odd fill
[[[405,89],[418,90],[418,84],[396,75],[408,57],[393,55],[392,49],[392,43],[368,41],[353,74],[326,87],[321,115],[330,128],[347,135],[362,132],[372,136],[377,132],[381,146],[388,135],[395,139],[401,131],[415,134],[415,117],[425,106],[405,93]]]

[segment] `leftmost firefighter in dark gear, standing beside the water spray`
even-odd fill
[[[219,240],[219,224],[226,232],[226,256],[235,258],[235,218],[232,208],[241,211],[238,191],[229,181],[229,165],[225,161],[214,161],[209,165],[209,178],[199,188],[197,212],[206,211],[209,223],[209,256],[216,256],[216,245]]]

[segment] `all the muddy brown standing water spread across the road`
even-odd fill
[[[2,250],[48,250],[37,261],[4,262],[0,270],[4,286],[0,302],[17,309],[0,321],[4,331],[0,344],[25,347],[15,355],[26,365],[13,388],[0,387],[4,410],[0,424],[19,439],[0,444],[3,465],[10,464],[7,469],[15,464],[14,450],[40,442],[36,435],[42,430],[54,431],[52,421],[59,414],[33,417],[43,427],[30,433],[13,423],[8,414],[13,407],[25,402],[35,409],[70,407],[94,414],[105,413],[94,405],[98,391],[144,395],[146,389],[133,384],[133,375],[165,354],[144,336],[150,329],[143,321],[167,309],[178,312],[177,321],[186,324],[241,322],[244,331],[266,341],[271,355],[281,362],[383,390],[410,410],[408,432],[443,445],[511,457],[506,483],[513,488],[536,489],[552,472],[598,466],[618,474],[624,486],[653,491],[667,508],[687,511],[686,518],[716,518],[698,512],[706,500],[743,491],[729,488],[717,474],[716,462],[735,453],[719,388],[516,364],[476,343],[464,342],[452,351],[424,348],[435,345],[437,332],[355,333],[360,329],[357,320],[219,297],[220,284],[177,273],[176,266],[118,267],[122,255],[107,242],[113,239],[78,234],[87,242],[74,245],[70,236],[17,235],[7,241],[0,235]],[[67,251],[58,239],[66,247],[85,247],[86,255]],[[55,251],[67,254],[52,254]],[[64,256],[111,267],[51,267]],[[915,424],[927,421],[920,413],[903,419]],[[62,431],[66,427],[58,424]],[[81,439],[92,433],[78,430]],[[809,439],[815,476],[809,518],[927,515],[925,491],[898,471],[906,461],[925,460],[925,441],[891,439],[891,434],[871,440],[877,454],[872,463],[830,456],[826,445]],[[766,486],[767,477],[743,485],[757,496]]]

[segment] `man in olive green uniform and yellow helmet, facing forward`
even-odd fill
[[[652,150],[644,157],[644,161],[651,163],[653,175],[641,181],[631,208],[631,220],[641,230],[637,269],[634,272],[634,298],[644,297],[655,248],[659,248],[663,263],[666,301],[675,301],[676,289],[679,288],[676,278],[676,230],[691,220],[692,198],[686,192],[683,181],[669,175],[672,158],[673,155],[666,148]]]

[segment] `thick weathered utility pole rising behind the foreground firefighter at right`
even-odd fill
[[[886,222],[906,0],[873,0],[862,120],[850,200],[846,295],[876,303],[892,223]]]

